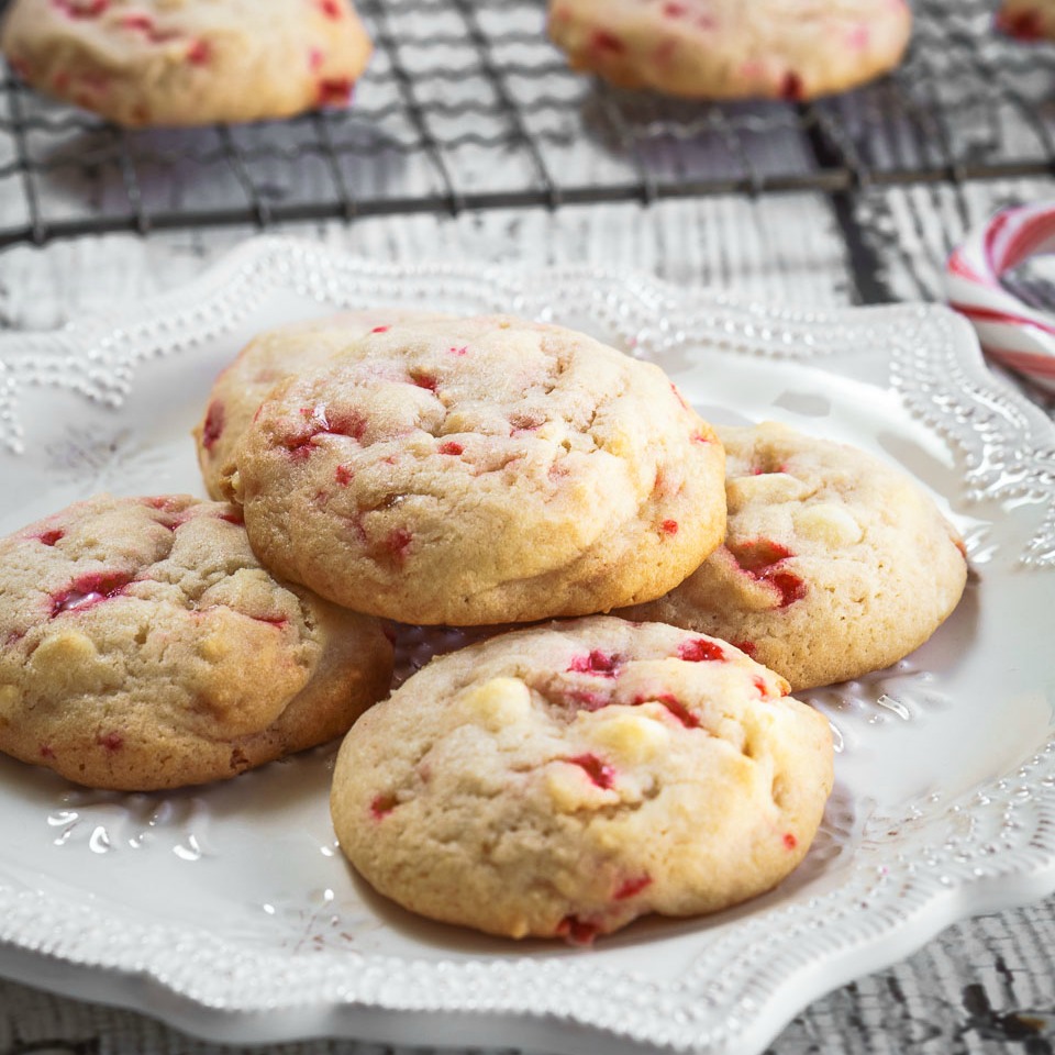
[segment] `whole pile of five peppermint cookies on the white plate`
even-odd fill
[[[655,365],[512,316],[262,334],[195,435],[214,501],[100,497],[0,542],[0,749],[168,788],[349,730],[348,859],[495,934],[779,882],[833,780],[789,691],[893,663],[966,579],[902,475],[715,431]],[[370,706],[401,628],[496,623]]]

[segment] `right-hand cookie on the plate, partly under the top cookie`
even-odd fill
[[[792,690],[882,669],[949,615],[966,582],[964,544],[908,476],[773,422],[718,431],[724,544],[623,614],[735,642]]]

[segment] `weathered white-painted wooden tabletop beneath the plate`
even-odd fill
[[[941,260],[965,222],[1006,201],[1055,196],[1055,180],[912,191],[871,191],[858,204],[875,278],[891,298],[933,298]],[[826,200],[709,199],[652,207],[496,211],[457,219],[297,226],[377,260],[479,259],[532,266],[593,263],[710,284],[764,300],[841,304],[857,297]],[[49,329],[135,301],[197,275],[251,230],[149,238],[114,235],[18,247],[0,255],[0,325]],[[1055,1039],[1055,898],[962,923],[902,964],[817,1001],[774,1042],[775,1055],[1022,1052]],[[142,1015],[0,981],[0,1055],[216,1055]],[[257,1055],[382,1051],[348,1041],[248,1048]]]

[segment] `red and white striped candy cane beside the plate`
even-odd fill
[[[989,356],[1055,392],[1055,319],[1000,285],[1000,277],[1026,257],[1051,252],[1055,202],[1004,209],[949,256],[945,296],[970,320]]]

